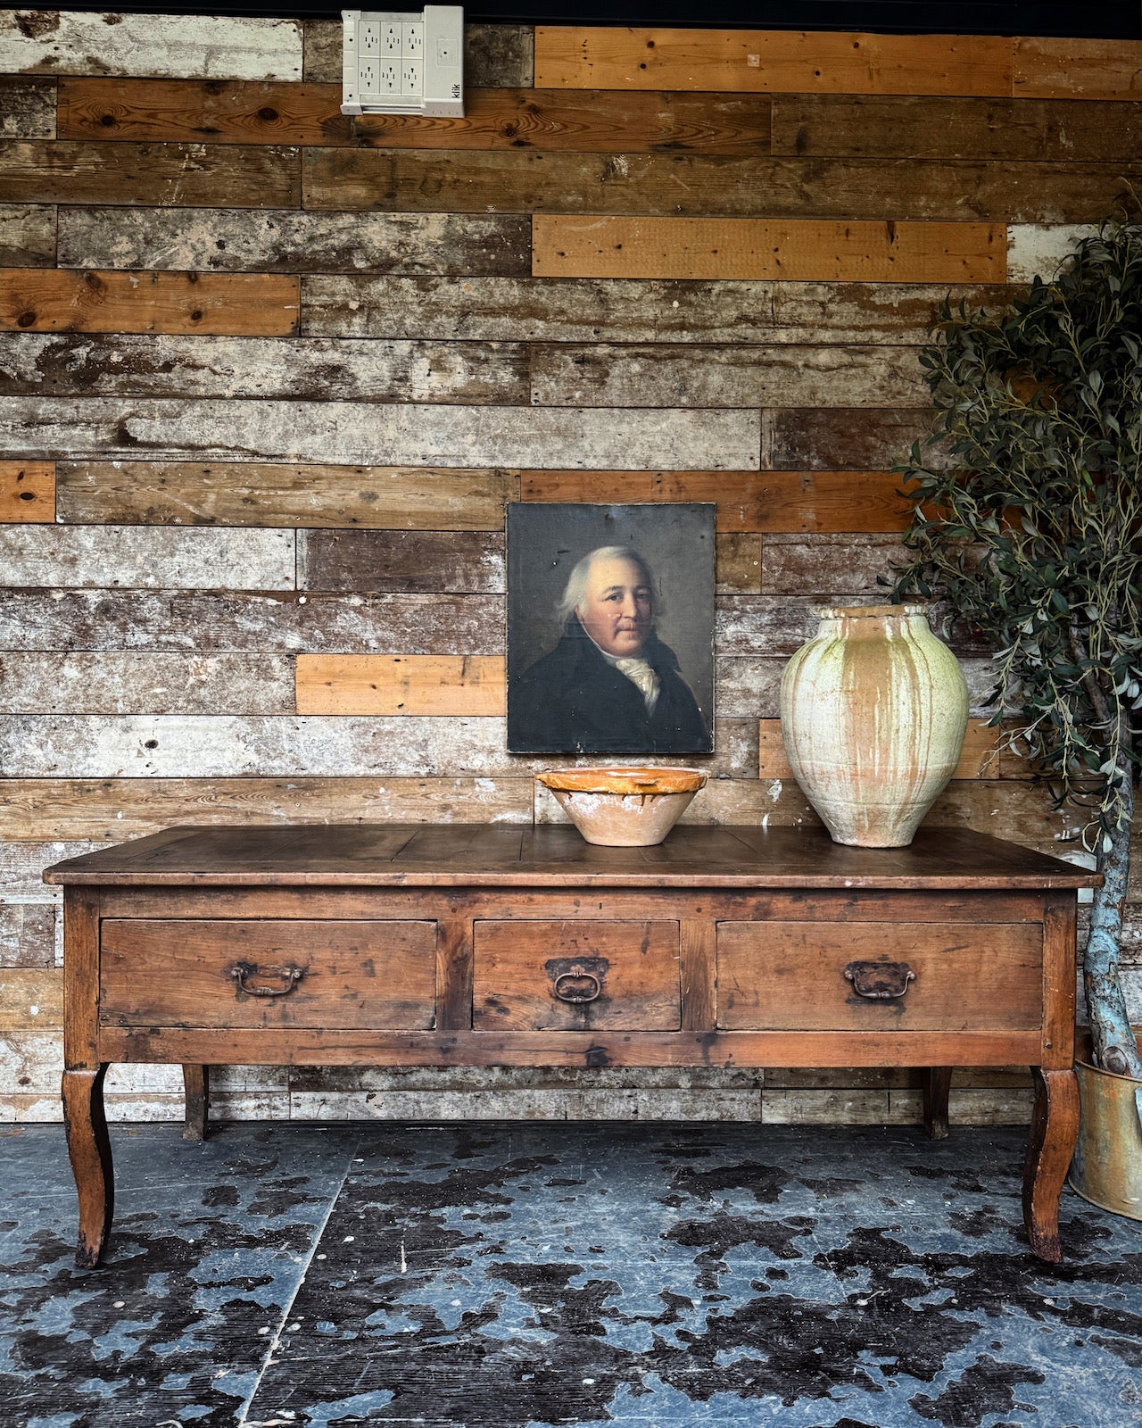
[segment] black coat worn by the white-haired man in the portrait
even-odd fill
[[[638,687],[604,660],[575,615],[555,648],[508,690],[508,748],[517,754],[708,754],[712,740],[669,645],[642,648],[661,690],[654,714]]]

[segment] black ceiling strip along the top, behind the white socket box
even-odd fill
[[[281,19],[335,19],[333,0],[270,0],[227,6],[177,0],[114,6],[143,14],[253,14]],[[101,4],[26,6],[33,10],[108,10]],[[374,4],[373,9],[381,9]],[[388,9],[400,10],[398,0]],[[410,6],[411,9],[411,6]],[[420,9],[420,6],[415,6]],[[751,30],[872,30],[891,34],[1051,34],[1088,39],[1142,39],[1142,0],[1102,3],[1015,3],[989,0],[475,0],[464,6],[468,21],[522,24],[618,24],[640,27]]]

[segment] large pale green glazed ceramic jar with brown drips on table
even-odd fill
[[[835,843],[902,848],[959,763],[964,673],[924,605],[818,613],[781,680],[785,753]]]

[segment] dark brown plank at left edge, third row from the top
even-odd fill
[[[16,140],[0,151],[0,200],[297,207],[297,150]]]

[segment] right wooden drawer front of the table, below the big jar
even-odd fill
[[[1042,927],[719,922],[727,1031],[1034,1031]]]

